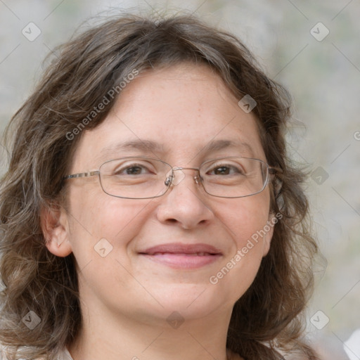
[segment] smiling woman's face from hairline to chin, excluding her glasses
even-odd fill
[[[127,84],[101,125],[83,131],[71,174],[128,156],[173,167],[227,156],[266,161],[255,117],[238,100],[204,65],[148,71]],[[89,309],[142,321],[164,321],[174,311],[200,318],[231,311],[249,288],[272,235],[249,245],[269,220],[269,187],[245,198],[217,198],[195,183],[196,172],[183,174],[162,197],[143,200],[106,194],[98,176],[68,180],[63,243],[52,251],[74,253]]]

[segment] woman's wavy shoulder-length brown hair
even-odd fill
[[[303,173],[286,153],[287,91],[264,75],[236,37],[194,15],[108,18],[59,46],[56,54],[5,134],[10,159],[0,188],[0,342],[9,358],[16,353],[52,359],[82,324],[75,258],[46,249],[39,221],[41,209],[66,200],[62,178],[81,137],[73,130],[82,129],[94,105],[107,96],[108,105],[88,117],[86,129],[103,122],[119,97],[108,91],[131,71],[190,62],[216,71],[239,99],[245,94],[255,99],[252,112],[266,160],[281,169],[271,183],[271,208],[283,217],[255,281],[233,308],[227,347],[247,360],[282,359],[288,353],[316,359],[302,340],[302,314],[317,246],[309,232]],[[33,330],[22,321],[30,310],[41,318]]]

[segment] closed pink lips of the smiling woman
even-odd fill
[[[212,245],[169,243],[139,252],[148,259],[175,269],[195,269],[216,262],[221,250]]]

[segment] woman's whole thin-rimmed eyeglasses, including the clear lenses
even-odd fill
[[[235,156],[207,160],[200,167],[172,167],[162,160],[128,157],[104,162],[98,170],[64,176],[76,179],[98,175],[108,195],[127,199],[150,199],[164,195],[185,177],[183,170],[197,172],[195,184],[219,198],[243,198],[261,193],[276,169],[266,162]]]

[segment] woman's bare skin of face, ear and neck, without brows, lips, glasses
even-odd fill
[[[122,90],[101,125],[83,131],[70,174],[131,155],[156,156],[173,167],[198,167],[205,160],[236,155],[266,161],[255,117],[237,102],[204,65],[145,72]],[[100,155],[110,144],[139,139],[155,141],[162,149]],[[249,143],[252,151],[203,151],[219,139]],[[195,184],[192,170],[184,174],[165,195],[147,200],[110,196],[98,176],[71,179],[67,209],[43,212],[49,251],[60,257],[73,252],[77,261],[84,322],[68,347],[75,360],[226,359],[233,304],[254,280],[272,229],[217,284],[209,279],[271,218],[269,186],[245,198],[216,198]],[[113,246],[105,257],[94,250],[101,238]],[[188,270],[139,255],[172,242],[210,244],[221,250],[221,257]],[[166,320],[174,311],[184,321],[176,328]]]

